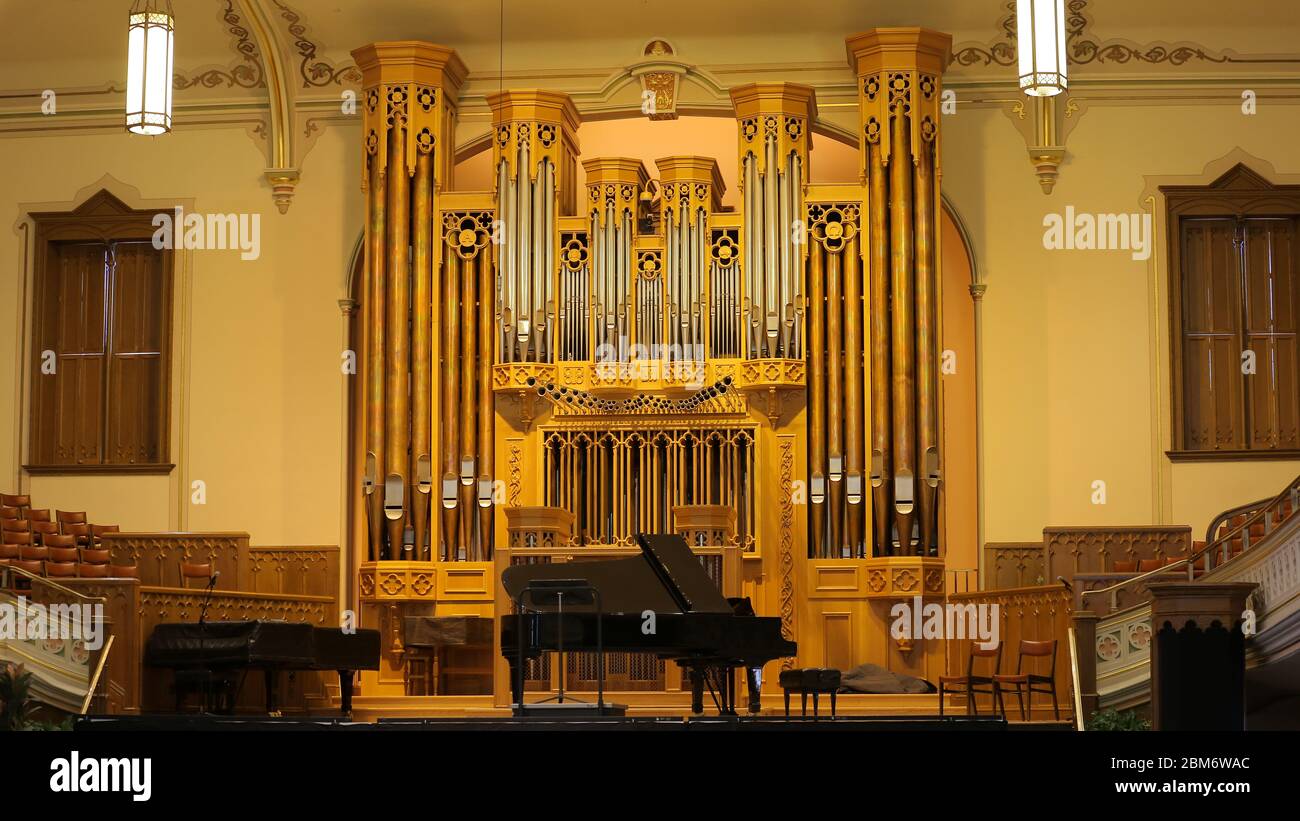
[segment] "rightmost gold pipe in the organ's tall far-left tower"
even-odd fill
[[[415,559],[428,560],[429,495],[433,490],[432,423],[433,398],[433,156],[415,161],[415,242],[412,257],[411,316],[411,524],[415,529]],[[432,539],[430,539],[432,540]]]

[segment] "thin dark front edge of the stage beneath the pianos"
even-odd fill
[[[467,731],[646,731],[646,733],[871,733],[871,731],[1020,731],[1071,730],[1069,722],[1006,722],[996,716],[646,716],[566,718],[556,716],[474,718],[386,718],[376,722],[341,717],[266,716],[86,716],[77,731],[350,731],[350,733],[467,733]]]

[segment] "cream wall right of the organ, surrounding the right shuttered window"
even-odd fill
[[[1261,101],[1260,113],[1247,117],[1231,97],[1197,105],[1092,105],[1069,135],[1069,160],[1050,196],[1039,188],[1006,114],[958,112],[944,120],[942,186],[970,229],[988,284],[980,340],[985,539],[1037,539],[1045,525],[1169,521],[1202,531],[1216,512],[1277,492],[1300,473],[1294,461],[1170,466],[1165,459],[1162,233],[1158,266],[1156,257],[1143,262],[1118,251],[1046,251],[1041,243],[1049,212],[1067,205],[1088,213],[1138,212],[1149,208],[1143,201],[1149,186],[1201,175],[1236,151],[1275,164],[1279,173],[1300,171],[1294,139],[1300,107]],[[1257,170],[1269,170],[1260,165]],[[1153,273],[1160,278],[1154,305]],[[1153,307],[1161,326],[1158,361],[1150,356]],[[1157,365],[1161,386],[1153,391]],[[1092,504],[1096,479],[1106,482],[1105,505]]]

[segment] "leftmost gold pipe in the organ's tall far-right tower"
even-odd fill
[[[889,235],[888,235],[888,182],[881,149],[868,143],[870,190],[867,200],[870,303],[868,326],[871,333],[871,509],[875,530],[875,551],[887,555],[889,526],[893,522],[893,421],[889,399],[890,339],[889,339]]]

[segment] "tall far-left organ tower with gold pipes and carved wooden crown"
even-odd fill
[[[365,387],[364,465],[359,470],[373,561],[428,559],[436,383],[434,221],[439,175],[450,178],[451,127],[467,70],[456,53],[428,43],[376,43],[354,53],[361,73],[367,188],[367,266],[361,291]],[[411,546],[411,552],[406,552]]]

